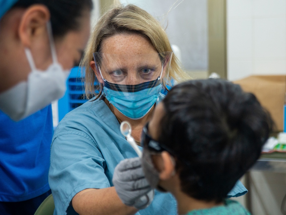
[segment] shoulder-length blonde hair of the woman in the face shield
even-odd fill
[[[84,58],[80,64],[85,68],[85,93],[87,98],[95,95],[95,90],[102,92],[102,85],[94,86],[96,76],[90,67],[90,61],[94,60],[93,53],[100,52],[102,42],[115,35],[122,33],[136,33],[148,38],[158,53],[172,52],[168,36],[160,23],[148,12],[136,5],[114,5],[100,18],[86,47]],[[190,77],[182,70],[178,58],[173,54],[170,62],[169,78],[177,82]]]

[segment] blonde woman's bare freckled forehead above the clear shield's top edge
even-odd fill
[[[101,52],[107,54],[155,54],[150,41],[140,34],[115,34],[102,42]]]

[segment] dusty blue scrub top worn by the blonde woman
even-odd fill
[[[163,98],[161,95],[160,100]],[[54,214],[77,214],[70,206],[76,193],[113,186],[116,165],[132,157],[137,157],[136,152],[121,134],[118,120],[103,100],[88,101],[69,112],[57,126],[51,145],[49,185],[55,202]],[[245,191],[239,184],[233,193],[241,195]],[[174,215],[176,210],[170,193],[155,192],[150,206],[136,215]]]

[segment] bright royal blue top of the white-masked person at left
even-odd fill
[[[52,136],[51,105],[19,122],[0,111],[0,202],[25,201],[50,189]]]

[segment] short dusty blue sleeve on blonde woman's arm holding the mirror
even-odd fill
[[[87,134],[58,134],[51,145],[49,169],[55,214],[66,214],[72,198],[84,189],[110,187],[105,167],[100,150]]]

